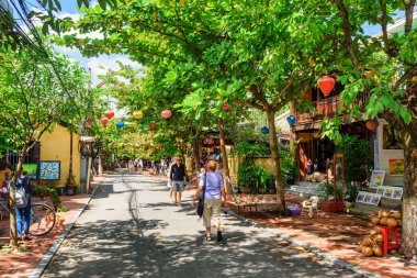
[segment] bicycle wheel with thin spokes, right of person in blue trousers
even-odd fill
[[[31,225],[29,232],[32,235],[44,235],[50,232],[55,225],[55,211],[45,203],[33,203],[31,208]]]

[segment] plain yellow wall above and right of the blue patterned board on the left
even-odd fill
[[[69,141],[70,134],[66,127],[57,124],[52,133],[44,133],[41,137],[41,160],[60,162],[60,180],[52,185],[65,185],[69,169]],[[76,184],[80,184],[80,153],[79,135],[72,134],[72,174]]]

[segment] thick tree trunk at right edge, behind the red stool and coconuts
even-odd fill
[[[414,127],[413,127],[414,126]],[[417,122],[404,133],[403,244],[407,258],[417,257]]]

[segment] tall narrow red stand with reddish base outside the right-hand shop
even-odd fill
[[[340,158],[341,164],[341,200],[338,200],[336,188],[337,188],[337,158]],[[334,170],[334,200],[329,201],[329,174],[328,170],[333,165]],[[343,154],[335,154],[333,160],[326,162],[326,201],[320,202],[322,211],[327,212],[340,212],[343,211],[345,208],[345,155]]]

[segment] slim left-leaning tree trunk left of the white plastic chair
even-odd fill
[[[273,174],[275,176],[275,188],[278,194],[278,210],[282,212],[285,210],[285,193],[284,181],[281,176],[281,165],[278,154],[278,138],[275,129],[275,111],[272,109],[267,110],[268,127],[269,127],[269,146],[271,149],[271,158],[273,162]]]

